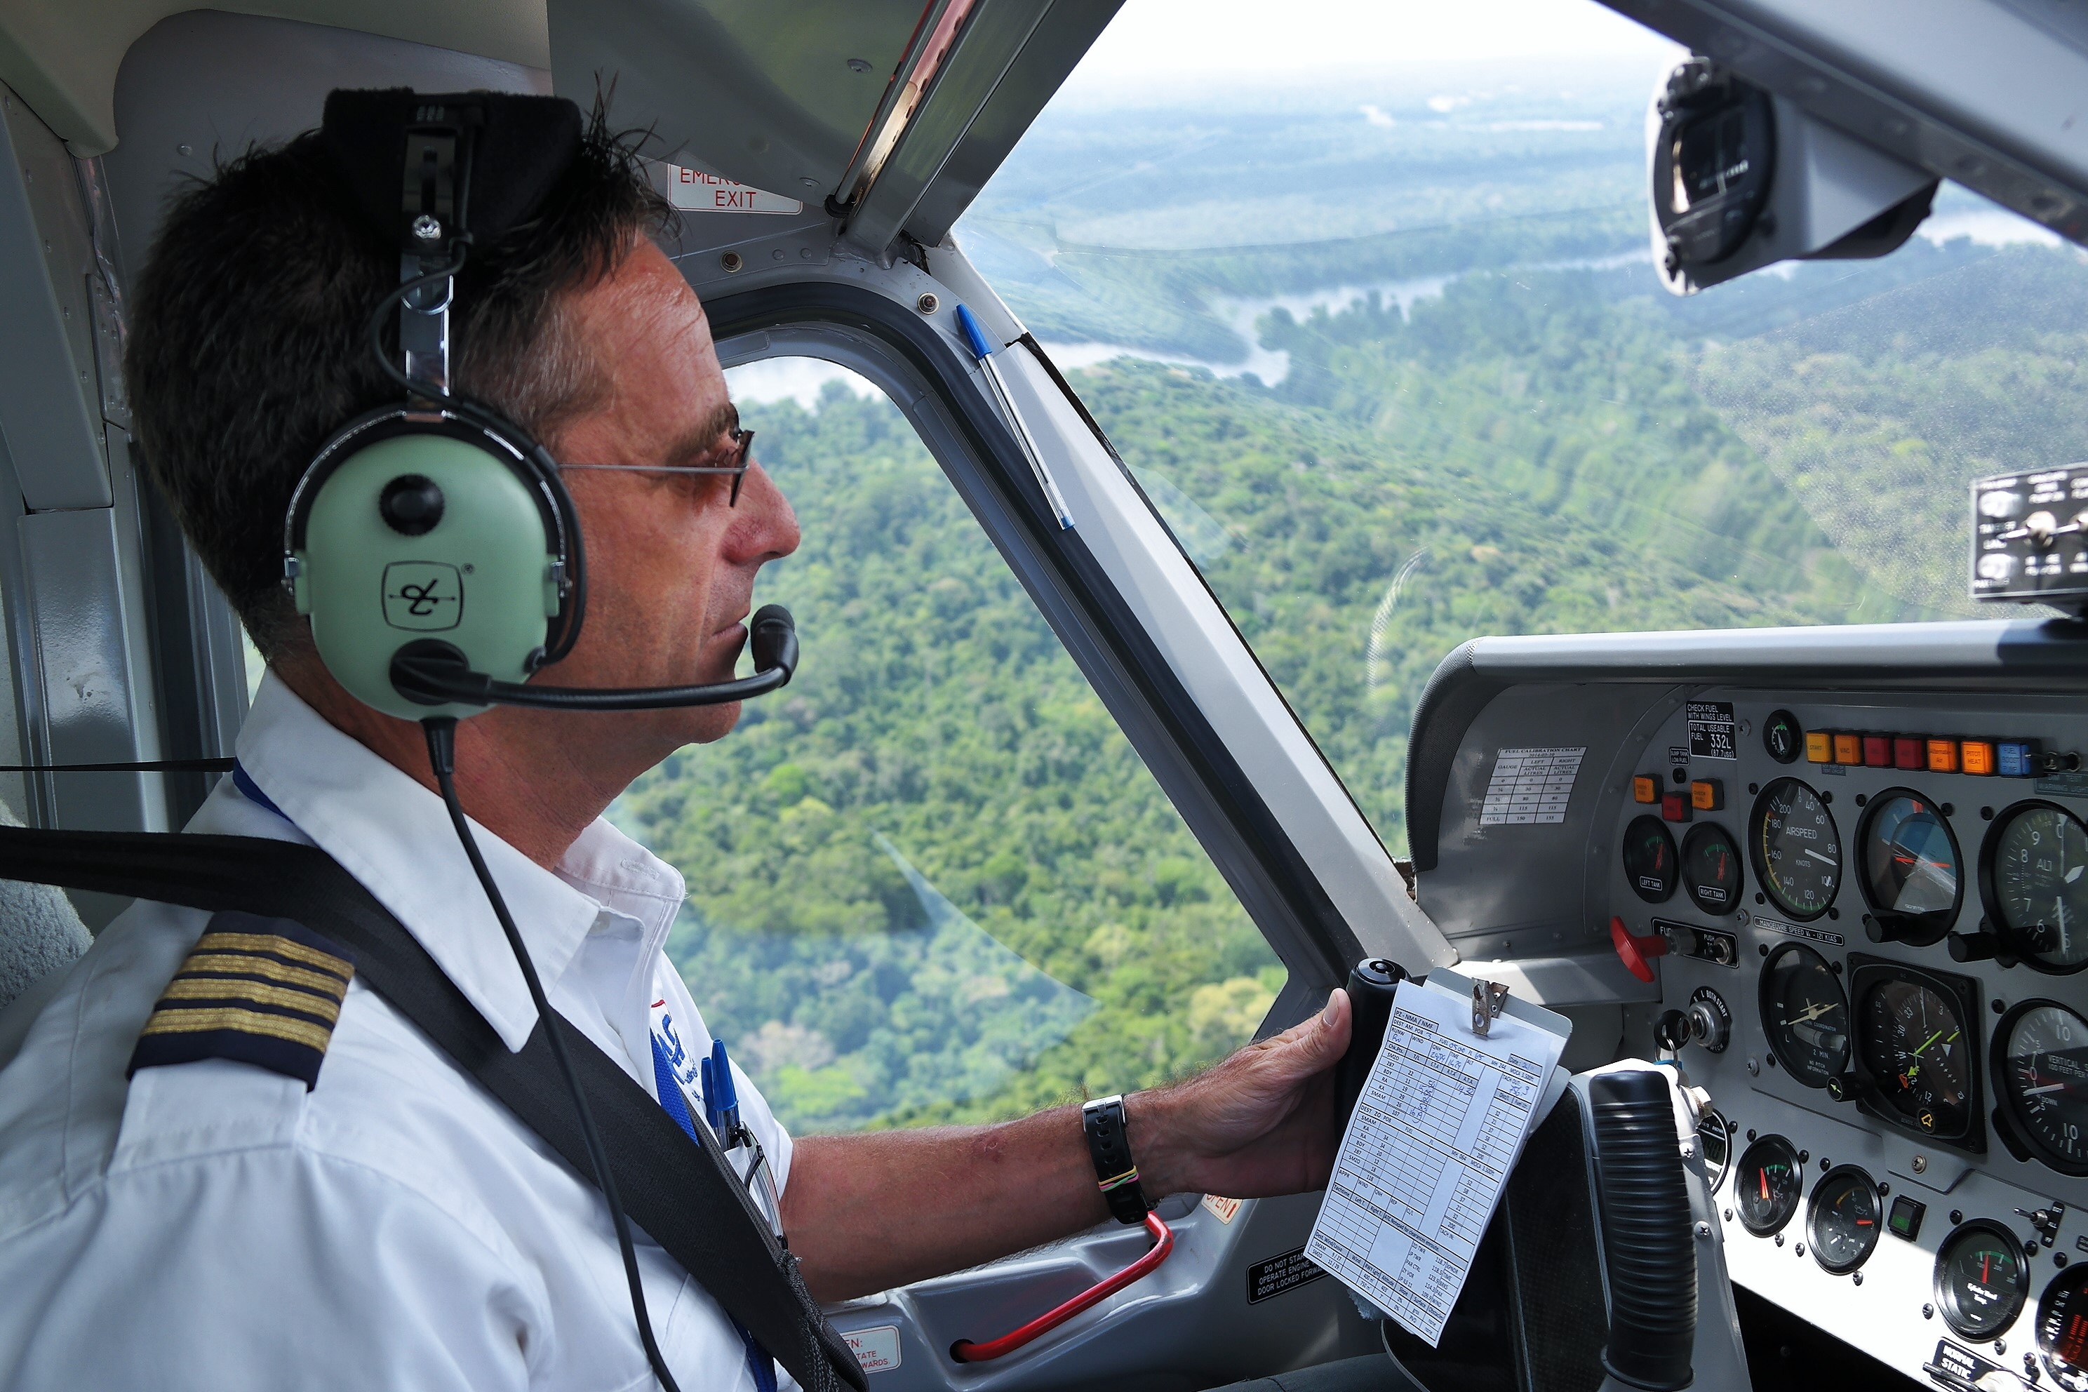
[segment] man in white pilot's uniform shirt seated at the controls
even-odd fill
[[[541,213],[474,248],[457,388],[566,461],[737,457],[704,307],[656,240],[668,217],[597,111]],[[238,768],[190,831],[322,847],[518,1050],[530,995],[432,791],[422,730],[332,678],[282,589],[305,463],[340,422],[397,399],[365,328],[397,284],[397,253],[357,221],[317,136],[180,192],[136,280],[138,449],[269,664]],[[591,595],[555,680],[731,680],[756,574],[798,547],[775,480],[748,463],[743,478],[574,470],[568,486]],[[725,739],[737,714],[493,710],[457,730],[464,806],[551,1006],[668,1110],[697,1117],[691,1064],[712,1039],[662,954],[683,879],[601,814],[683,745]],[[654,1386],[591,1179],[324,939],[219,922],[198,947],[207,927],[198,910],[136,904],[31,1021],[0,1029],[0,1058],[19,1039],[0,1071],[0,1388]],[[161,1025],[182,1008],[177,970],[303,991],[328,1018],[269,1035],[234,1012],[184,1035]],[[1324,1185],[1347,1037],[1334,991],[1303,1025],[1130,1096],[1144,1190]],[[733,1081],[821,1300],[1111,1213],[1079,1106],[793,1142],[754,1083]],[[764,1352],[689,1273],[643,1235],[637,1254],[683,1388],[773,1386]]]

